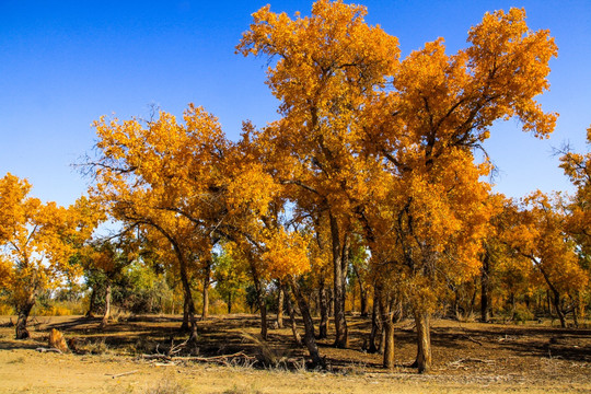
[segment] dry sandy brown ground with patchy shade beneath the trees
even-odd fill
[[[379,355],[362,351],[370,323],[358,316],[349,317],[349,349],[320,341],[329,371],[304,370],[306,351],[293,345],[290,329],[270,329],[267,344],[256,340],[252,315],[199,322],[196,351],[216,357],[243,350],[277,367],[142,358],[164,352],[171,339],[181,343],[175,316],[121,318],[104,332],[99,320],[39,317],[24,341],[13,339],[8,322],[0,318],[0,393],[591,393],[589,328],[434,321],[433,371],[418,375],[406,367],[416,351],[409,321],[397,326],[391,372],[380,368]],[[80,354],[38,352],[54,327],[76,338]]]

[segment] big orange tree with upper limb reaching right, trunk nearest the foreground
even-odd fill
[[[547,31],[532,32],[524,11],[511,9],[485,14],[468,43],[451,56],[441,38],[412,53],[393,90],[368,107],[366,118],[368,150],[392,177],[385,183],[391,193],[381,192],[380,177],[373,195],[384,198],[396,232],[390,244],[402,250],[398,263],[408,270],[420,372],[431,362],[428,317],[438,273],[464,267],[468,274],[479,265],[490,215],[480,179],[490,167],[476,163],[474,150],[497,119],[515,116],[538,137],[547,137],[556,119],[534,100],[548,89],[548,61],[556,56]],[[358,210],[371,241],[381,232],[372,231],[368,207]]]

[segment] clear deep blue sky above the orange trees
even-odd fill
[[[182,114],[202,105],[236,139],[241,123],[277,118],[265,61],[234,54],[251,13],[308,14],[311,1],[27,1],[0,0],[0,176],[33,184],[33,195],[68,205],[85,190],[70,164],[95,142],[101,115],[146,116],[157,104]],[[500,167],[496,189],[520,197],[569,184],[552,157],[565,141],[586,150],[591,124],[591,1],[361,1],[367,21],[399,38],[403,56],[444,37],[449,53],[465,46],[486,11],[523,7],[534,30],[548,28],[559,48],[551,91],[541,102],[560,114],[551,140],[510,120],[486,148]],[[434,4],[434,5],[433,5]]]

